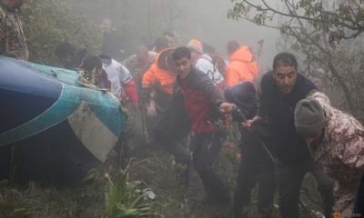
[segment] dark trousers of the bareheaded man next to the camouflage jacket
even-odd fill
[[[277,185],[279,213],[281,218],[299,217],[299,191],[306,173],[312,173],[319,184],[325,216],[331,216],[334,204],[334,181],[328,175],[322,173],[311,158],[299,165],[277,163]]]

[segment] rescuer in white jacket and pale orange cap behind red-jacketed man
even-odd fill
[[[188,42],[187,47],[191,51],[191,62],[202,73],[212,80],[221,90],[224,88],[224,77],[218,72],[217,67],[212,63],[212,58],[204,54],[204,48],[200,41],[192,39]]]

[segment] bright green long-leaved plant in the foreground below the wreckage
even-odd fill
[[[129,183],[129,167],[118,173],[114,181],[106,174],[108,190],[106,192],[107,218],[139,218],[163,217],[153,213],[153,199],[156,197],[150,189],[140,181]]]

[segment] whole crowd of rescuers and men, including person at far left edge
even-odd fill
[[[23,2],[0,0],[0,54],[27,60],[17,15]],[[300,188],[311,173],[326,217],[364,217],[364,127],[298,74],[293,54],[275,56],[258,92],[253,83],[258,62],[237,41],[227,43],[225,60],[197,39],[176,48],[175,35],[167,32],[152,49],[141,45],[122,60],[109,20],[103,29],[106,42],[100,55],[62,43],[55,52],[60,63],[80,72],[80,84],[110,91],[145,113],[154,142],[183,166],[179,183],[189,184],[194,166],[214,216],[232,212],[248,217],[250,194],[258,183],[260,217],[272,217],[276,189],[280,216],[299,217]],[[213,168],[227,137],[217,122],[228,117],[238,122],[241,134],[233,203]]]

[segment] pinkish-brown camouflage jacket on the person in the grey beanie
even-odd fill
[[[321,140],[310,147],[324,173],[337,182],[334,211],[349,217],[364,172],[364,127],[353,116],[332,107],[325,94],[315,92],[310,96],[319,101],[328,120]]]

